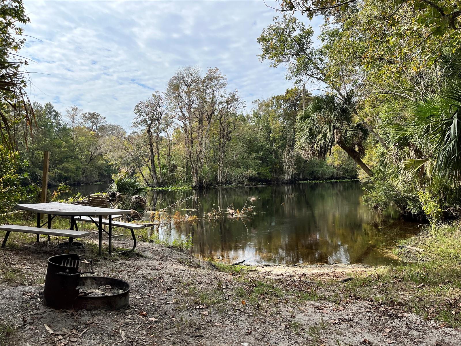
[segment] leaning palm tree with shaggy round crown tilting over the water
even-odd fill
[[[361,160],[368,130],[363,124],[353,122],[355,107],[352,94],[344,100],[329,94],[313,96],[308,107],[296,117],[296,149],[306,159],[325,159],[337,144],[372,177],[372,171]]]

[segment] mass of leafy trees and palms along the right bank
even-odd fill
[[[260,59],[287,66],[287,78],[325,92],[300,113],[298,149],[328,155],[353,130],[361,138],[355,151],[368,183],[366,204],[378,210],[394,204],[433,225],[459,217],[461,2],[278,5],[282,16],[258,38]],[[293,11],[323,16],[319,44]]]

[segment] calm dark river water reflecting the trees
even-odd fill
[[[89,193],[91,185],[82,186]],[[205,259],[246,260],[250,264],[395,262],[391,250],[398,240],[417,233],[417,225],[392,221],[392,215],[382,221],[362,205],[362,195],[362,187],[355,181],[152,191],[149,202],[158,208],[193,196],[169,213],[178,210],[197,215],[199,220],[193,225],[185,222],[148,227],[145,232],[146,237],[158,236],[170,242],[192,236],[191,251]],[[213,209],[226,209],[231,204],[242,209],[247,197],[258,197],[253,203],[254,214],[242,218],[225,215],[211,221],[202,218]]]

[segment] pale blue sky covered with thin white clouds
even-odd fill
[[[269,0],[269,3],[270,0]],[[30,1],[21,54],[31,101],[77,105],[130,127],[136,103],[182,66],[218,67],[246,103],[293,86],[258,60],[256,38],[277,13],[263,1]],[[319,24],[319,23],[318,23]]]

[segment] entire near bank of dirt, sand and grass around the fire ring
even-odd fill
[[[130,307],[106,313],[43,306],[46,258],[60,253],[59,240],[36,245],[12,233],[0,255],[1,344],[459,345],[459,234],[458,225],[408,239],[424,251],[399,250],[413,262],[394,267],[232,266],[139,242],[136,254],[96,262],[96,274],[132,286]],[[95,257],[96,239],[85,243],[79,253]],[[436,265],[448,244],[449,260]]]

